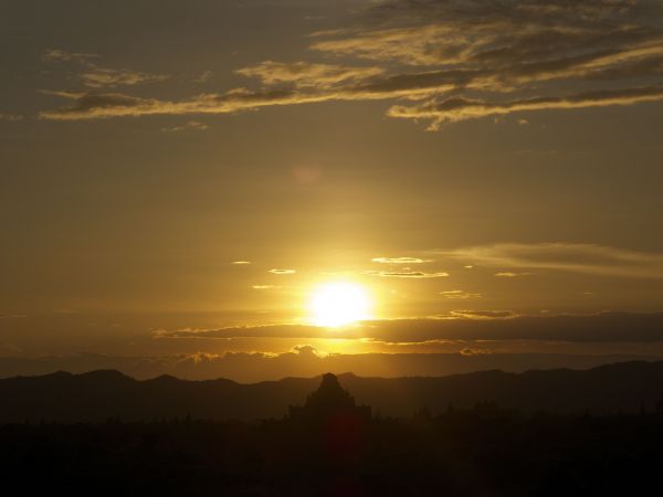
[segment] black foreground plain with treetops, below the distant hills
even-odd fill
[[[14,496],[659,495],[663,415],[519,415],[325,423],[190,419],[0,427]],[[8,494],[9,495],[9,494]]]

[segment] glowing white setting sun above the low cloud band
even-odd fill
[[[371,302],[366,289],[350,282],[325,283],[317,286],[308,303],[311,322],[336,327],[370,319]]]

